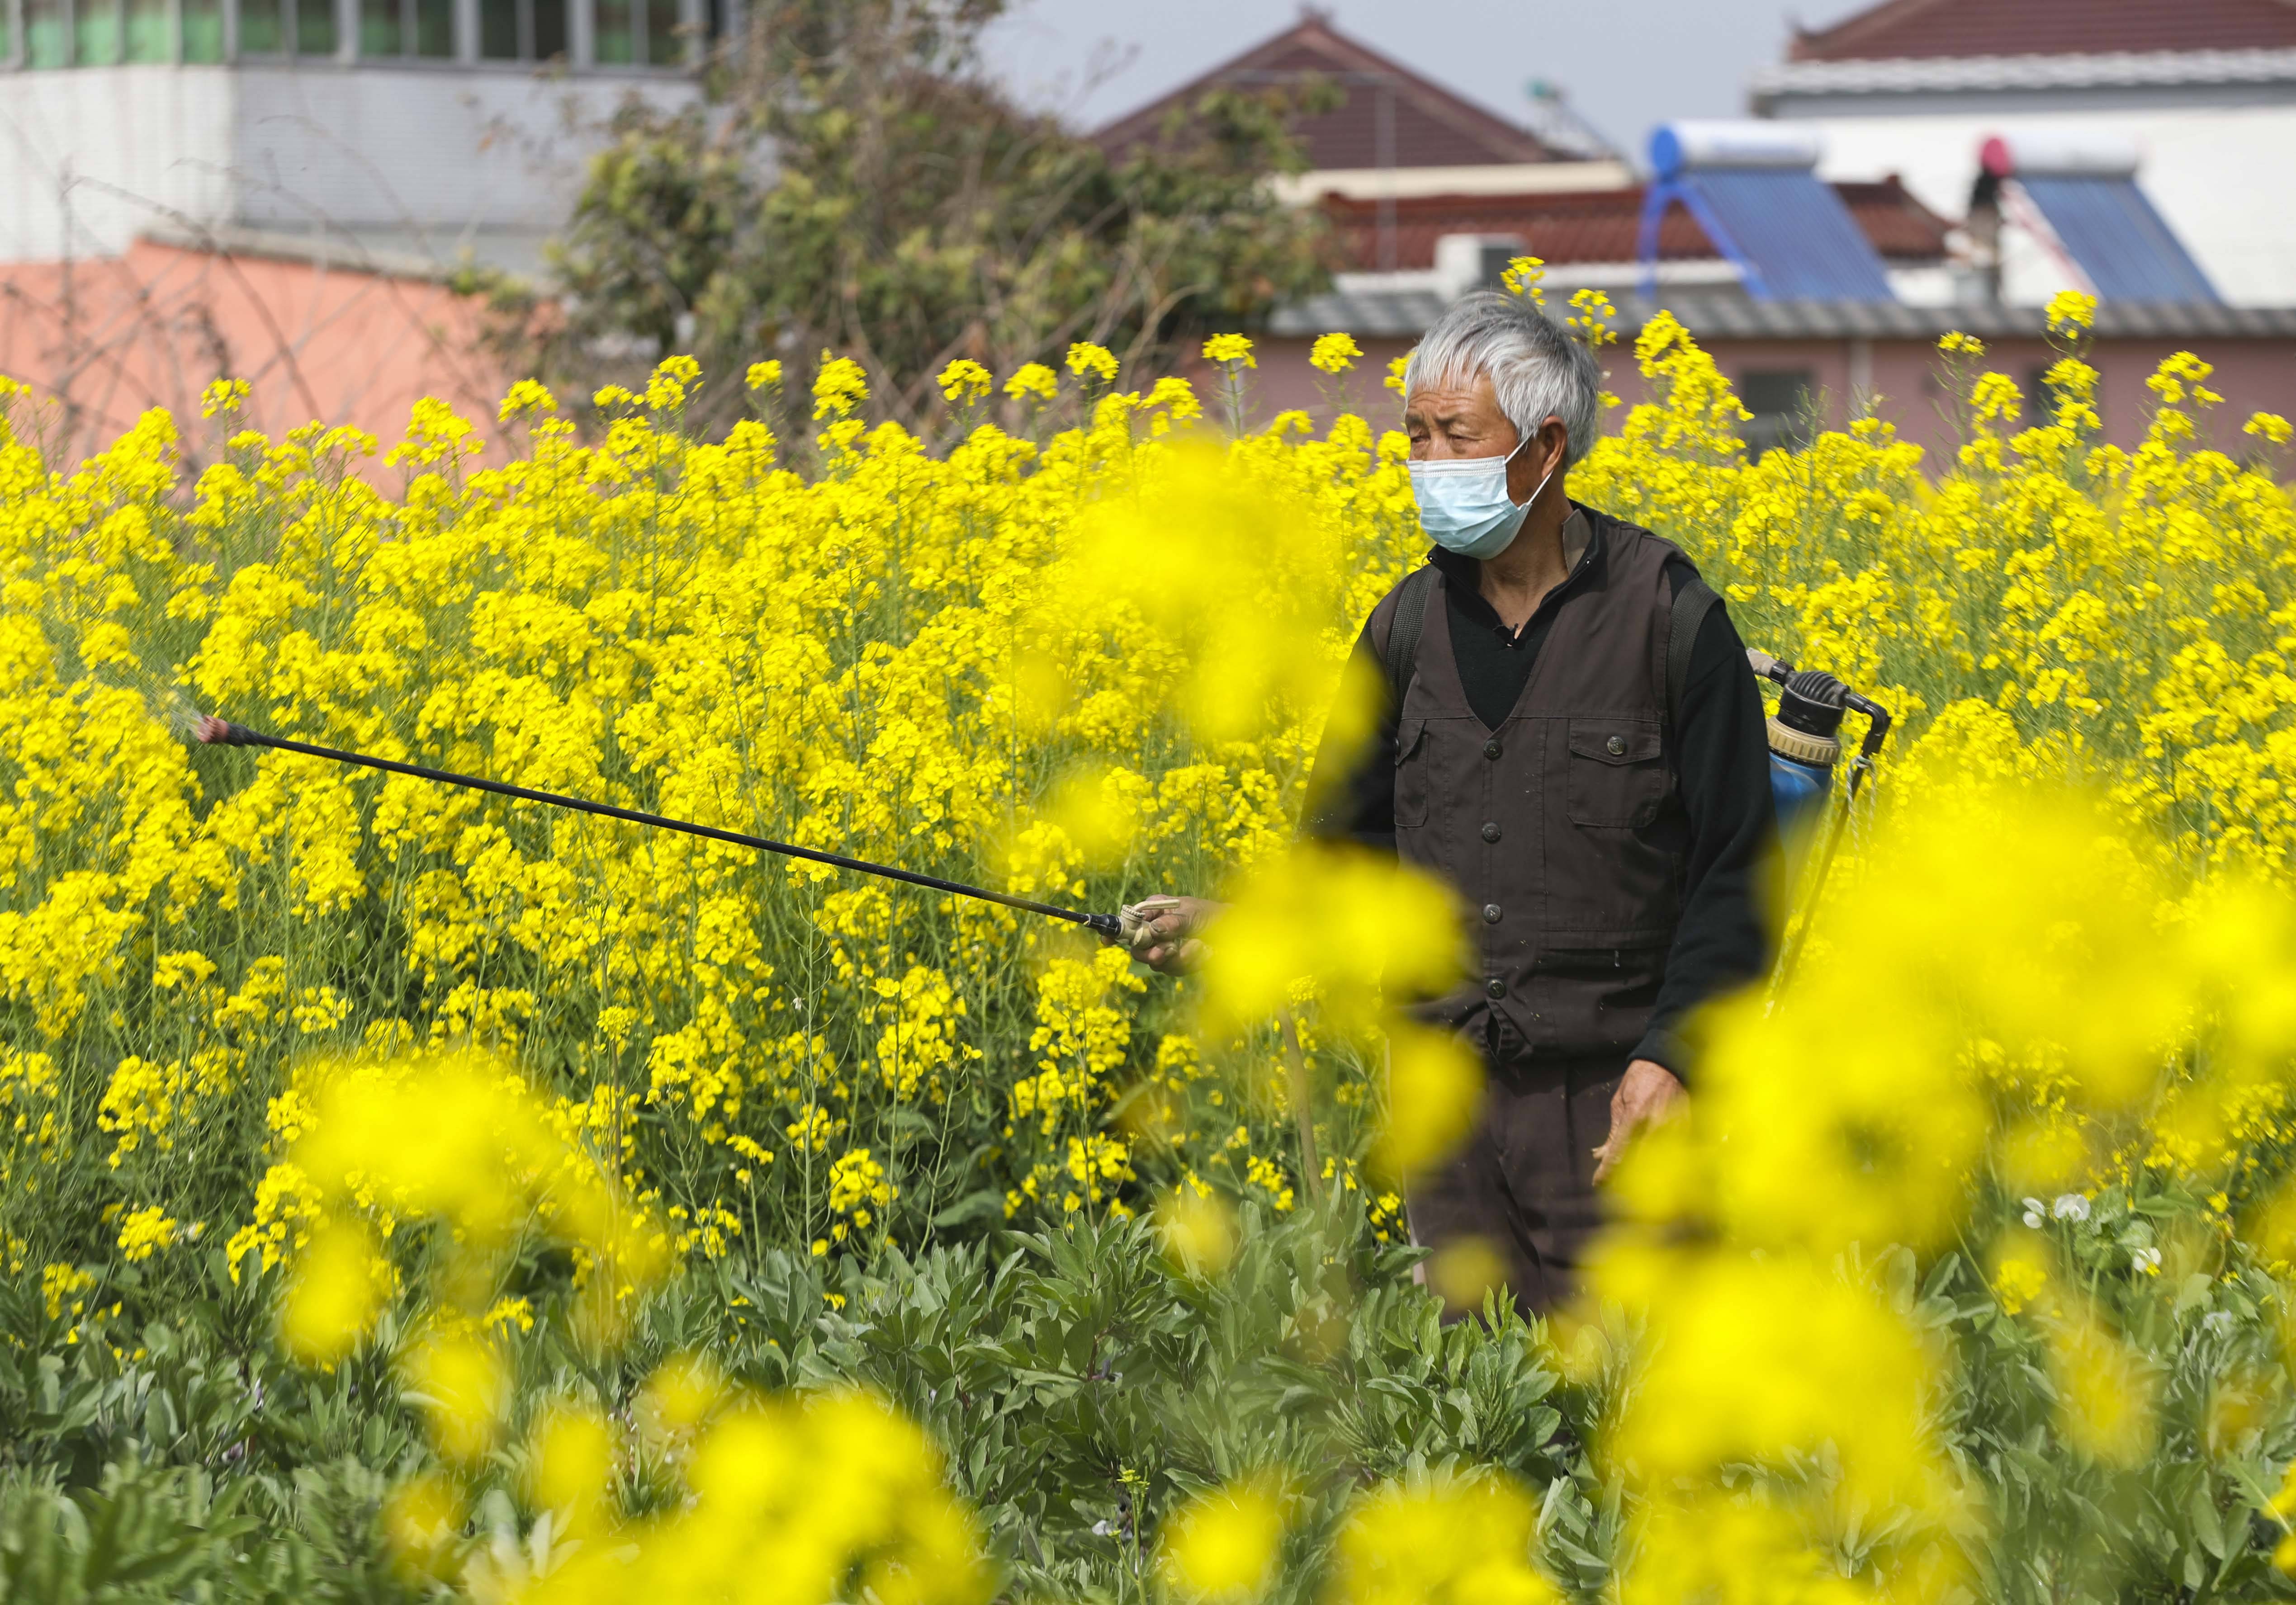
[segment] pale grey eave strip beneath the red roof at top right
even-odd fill
[[[1784,62],[1747,78],[1756,106],[1782,94],[1924,94],[1958,90],[2151,90],[2296,80],[2285,51],[2108,51],[1894,62]]]

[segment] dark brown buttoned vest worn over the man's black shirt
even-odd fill
[[[1506,1056],[1635,1047],[1681,918],[1688,817],[1665,719],[1681,553],[1587,517],[1600,553],[1506,721],[1488,730],[1467,707],[1437,581],[1396,726],[1396,852],[1467,905],[1472,980],[1421,1017],[1495,1026]],[[1394,592],[1373,611],[1382,654],[1391,620]]]

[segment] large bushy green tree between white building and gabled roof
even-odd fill
[[[1320,216],[1267,186],[1304,170],[1288,119],[1325,90],[1212,90],[1111,154],[985,78],[1001,9],[760,5],[703,106],[622,106],[553,250],[563,319],[537,338],[498,298],[533,367],[585,381],[693,351],[742,372],[829,347],[918,425],[953,358],[1008,374],[1091,340],[1169,367],[1327,282]]]

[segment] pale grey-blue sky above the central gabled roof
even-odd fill
[[[1745,113],[1745,78],[1871,0],[1329,0],[1332,21],[1520,122],[1525,85],[1559,85],[1632,158],[1671,117]],[[990,62],[1024,99],[1084,126],[1153,101],[1288,28],[1295,0],[1015,0]],[[1100,71],[1114,67],[1114,71]]]

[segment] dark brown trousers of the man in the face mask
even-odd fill
[[[1564,1059],[1486,1052],[1483,1114],[1474,1134],[1410,1189],[1412,1238],[1435,1249],[1497,1256],[1515,1309],[1559,1309],[1577,1290],[1587,1242],[1603,1224],[1593,1150],[1609,1137],[1609,1095],[1626,1054]],[[1453,1309],[1453,1316],[1469,1313]]]

